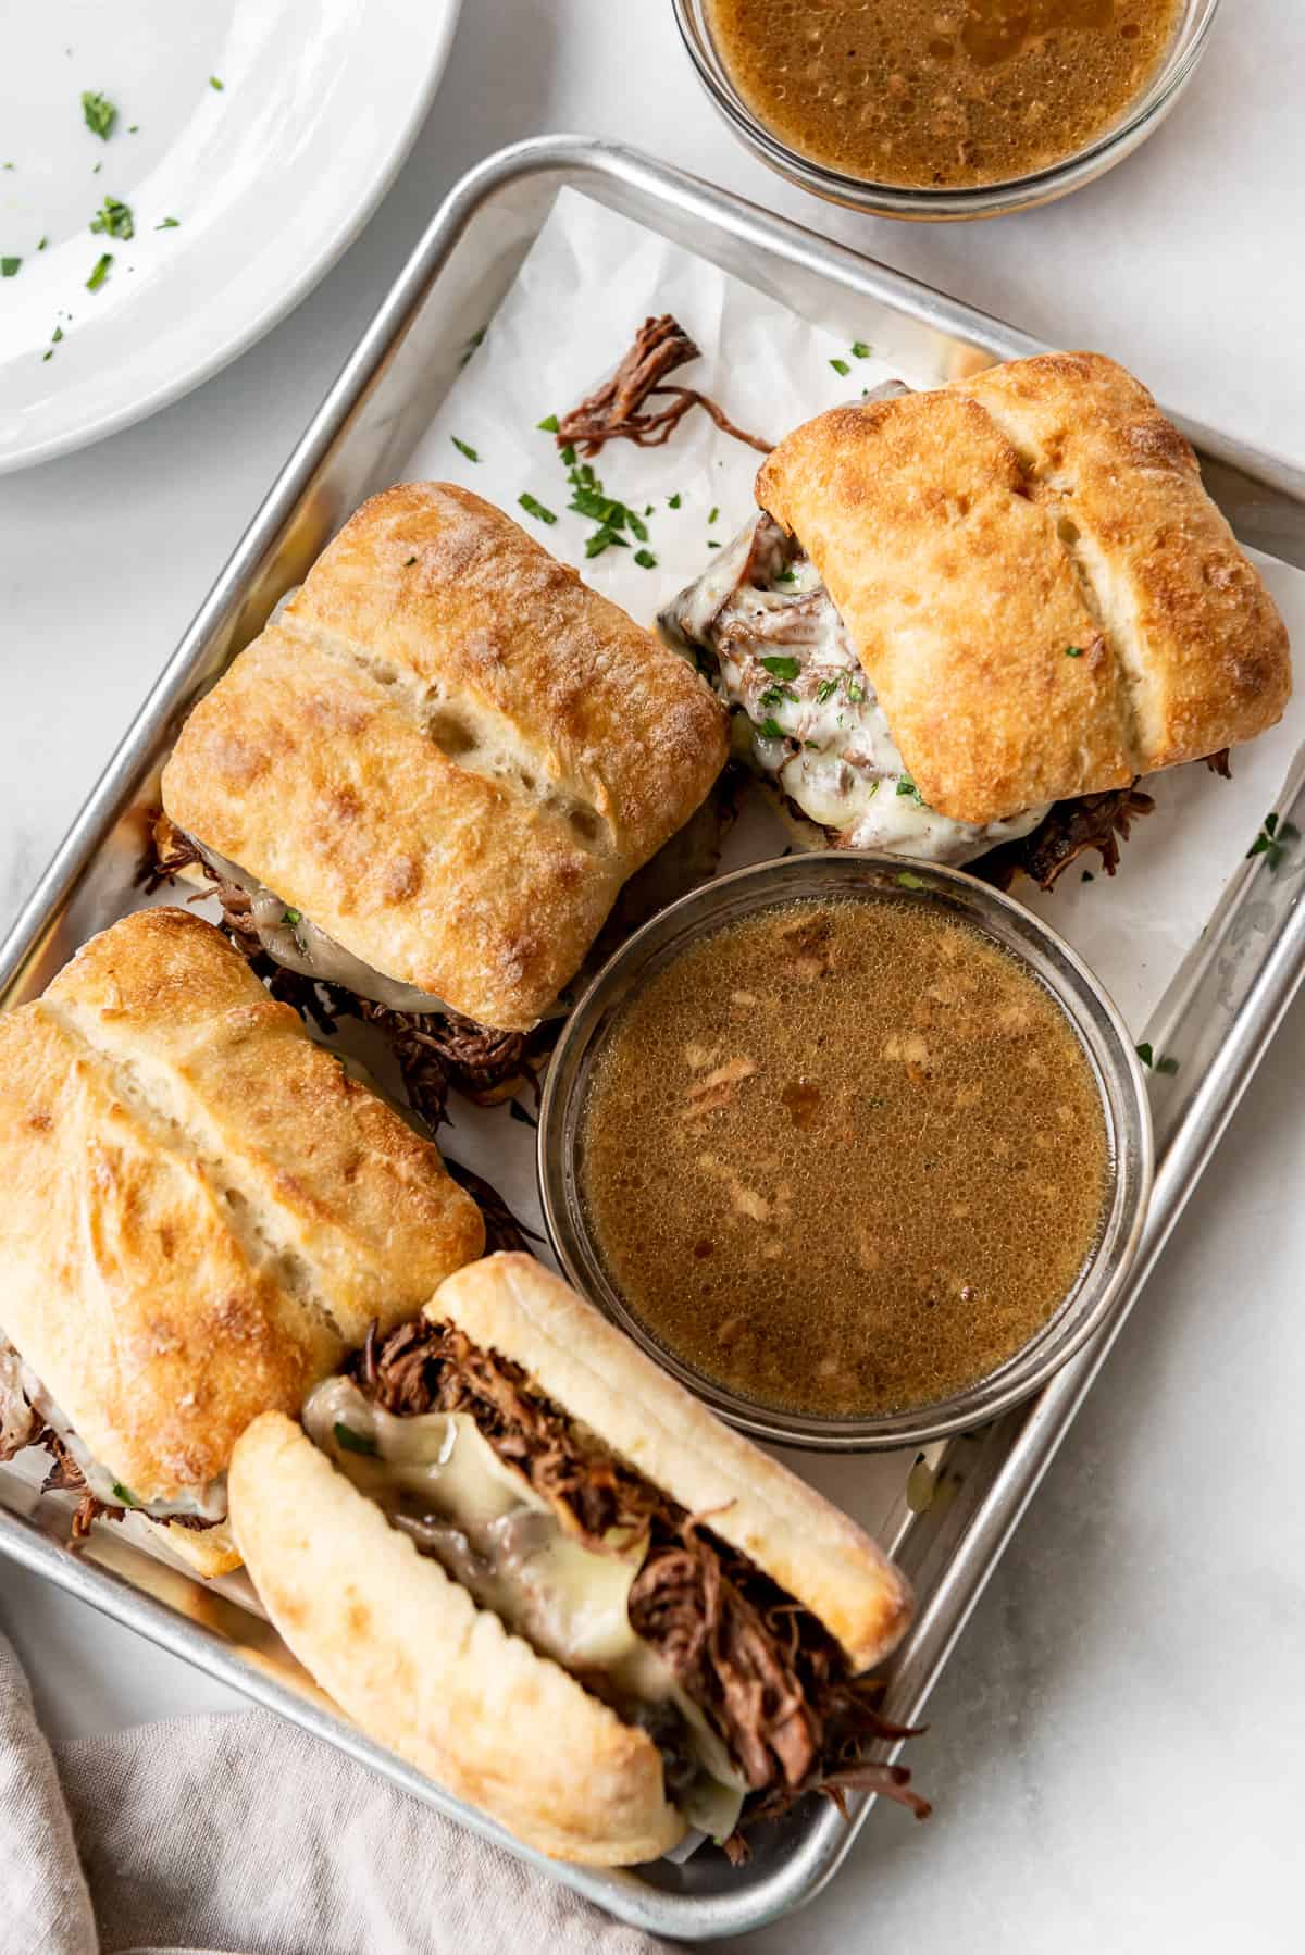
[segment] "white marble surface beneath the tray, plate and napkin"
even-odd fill
[[[470,0],[407,170],[325,285],[190,401],[0,481],[0,923],[432,205],[515,137],[640,143],[1299,461],[1305,14],[1223,12],[1117,174],[996,227],[900,229],[743,156],[665,0]],[[751,1949],[1301,1947],[1303,1060],[1297,1009],[953,1658],[916,1746],[935,1820],[880,1812],[800,1930]],[[0,1623],[55,1732],[233,1701],[4,1566]]]

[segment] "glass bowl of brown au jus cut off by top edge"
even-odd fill
[[[996,217],[1090,184],[1164,121],[1219,0],[675,0],[734,133],[878,217]]]

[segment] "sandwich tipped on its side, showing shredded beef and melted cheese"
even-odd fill
[[[816,1785],[923,1806],[859,1763],[906,1580],[526,1255],[256,1419],[231,1519],[323,1689],[560,1859],[738,1851]]]

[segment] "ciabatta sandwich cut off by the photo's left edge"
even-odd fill
[[[45,1447],[74,1535],[137,1511],[239,1566],[241,1431],[483,1243],[438,1150],[200,917],[125,917],[0,1019],[0,1460]]]

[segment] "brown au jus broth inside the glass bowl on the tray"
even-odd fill
[[[972,925],[804,899],[622,1009],[579,1187],[648,1331],[742,1398],[855,1415],[986,1376],[1098,1236],[1107,1132],[1049,991]]]

